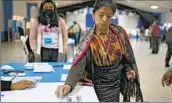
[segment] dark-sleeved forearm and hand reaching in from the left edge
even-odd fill
[[[31,85],[33,85],[33,82],[28,80],[21,80],[16,83],[12,83],[12,81],[1,80],[1,91],[23,90]]]

